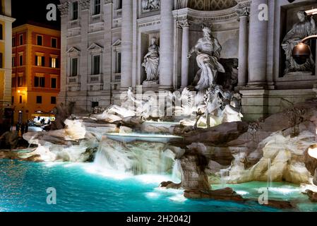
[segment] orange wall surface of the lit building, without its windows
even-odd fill
[[[35,25],[21,25],[13,29],[13,37],[19,42],[23,35],[23,44],[17,43],[13,47],[16,56],[23,53],[23,66],[16,64],[13,67],[12,96],[15,107],[14,121],[18,121],[19,112],[22,113],[23,122],[32,119],[36,112],[49,113],[56,104],[51,103],[51,97],[57,98],[61,85],[61,38],[59,30],[42,28]],[[37,35],[42,36],[42,46],[37,44]],[[17,39],[18,37],[18,39]],[[56,39],[56,47],[52,47],[52,38]],[[44,57],[44,66],[36,65],[36,56]],[[50,58],[56,57],[57,68],[52,68]],[[16,57],[19,63],[19,57]],[[23,84],[18,84],[18,76],[23,74]],[[35,87],[35,77],[44,78],[44,87]],[[56,78],[56,88],[52,88],[52,78]],[[42,103],[37,103],[37,96],[42,97]],[[20,102],[22,98],[22,102]]]

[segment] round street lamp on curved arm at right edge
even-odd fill
[[[313,39],[317,39],[317,35],[305,37],[304,40],[301,40],[301,42],[294,47],[292,57],[297,64],[305,64],[307,59],[311,56],[311,48],[308,44],[305,44],[305,42]]]

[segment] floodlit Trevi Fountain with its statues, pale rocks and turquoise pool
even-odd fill
[[[151,2],[147,10],[160,7]],[[315,70],[313,54],[304,64],[292,57],[302,38],[316,35],[315,20],[295,14],[299,22],[280,43],[287,76]],[[90,114],[60,104],[49,131],[23,135],[29,148],[0,150],[0,211],[316,211],[317,99],[285,100],[280,112],[245,120],[241,64],[233,61],[224,83],[222,49],[203,25],[186,54],[197,67],[191,85],[162,96],[127,88],[119,105]],[[161,57],[153,36],[143,84],[160,83]],[[59,191],[57,205],[41,203],[48,187]]]

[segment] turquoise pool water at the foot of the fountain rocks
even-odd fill
[[[160,182],[170,179],[169,175],[114,175],[95,171],[93,164],[0,160],[0,211],[277,211],[253,201],[188,200],[182,196],[183,191],[158,188]],[[56,189],[56,205],[46,202],[49,187]],[[266,183],[232,187],[246,198],[254,198]],[[317,210],[316,204],[301,204],[308,198],[297,186],[273,184],[273,187],[272,198],[296,199],[301,210]]]

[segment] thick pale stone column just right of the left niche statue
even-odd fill
[[[130,1],[130,0],[129,0]],[[173,87],[173,43],[174,18],[172,0],[161,0],[160,29],[160,89],[170,90]]]

